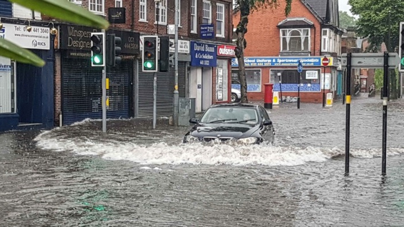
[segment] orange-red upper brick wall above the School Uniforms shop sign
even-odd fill
[[[244,56],[278,56],[280,52],[280,33],[276,27],[286,19],[284,15],[285,1],[279,1],[275,10],[262,8],[248,17],[246,41],[247,47]],[[314,23],[311,33],[311,55],[320,55],[321,28],[320,22],[309,9],[300,1],[292,1],[292,11],[288,17],[305,17]],[[240,21],[240,14],[234,15],[233,24],[236,27]]]

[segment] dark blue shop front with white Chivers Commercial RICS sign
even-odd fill
[[[46,65],[35,67],[0,57],[0,131],[52,128],[54,36],[49,27],[31,23],[27,29],[13,20],[2,22],[0,38],[31,50]]]

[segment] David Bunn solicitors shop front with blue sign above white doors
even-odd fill
[[[196,112],[202,112],[216,100],[217,46],[191,41],[189,98],[195,98]],[[214,78],[215,74],[215,78]],[[221,71],[223,75],[223,70]],[[222,83],[223,84],[223,83]],[[223,91],[221,99],[223,99]],[[226,92],[228,95],[228,92]]]

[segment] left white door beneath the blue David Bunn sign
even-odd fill
[[[202,111],[202,68],[191,67],[189,72],[189,98],[195,98],[195,111]]]

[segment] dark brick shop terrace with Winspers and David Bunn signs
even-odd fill
[[[169,36],[174,42],[174,1],[70,1],[107,19],[112,12],[122,20],[111,23],[106,32],[122,38],[122,62],[107,68],[107,118],[151,116],[154,76],[142,71],[143,36]],[[235,48],[231,45],[231,4],[231,0],[180,0],[179,95],[195,98],[196,111],[230,100]],[[53,21],[59,30],[55,41],[55,125],[101,118],[101,69],[90,66],[90,34],[100,30],[42,18]],[[173,113],[174,71],[172,66],[157,74],[158,116]]]

